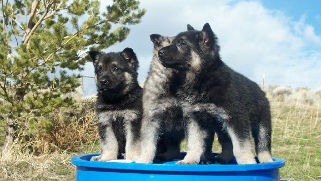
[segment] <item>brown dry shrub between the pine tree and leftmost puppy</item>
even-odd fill
[[[59,110],[52,117],[52,127],[30,137],[22,133],[16,139],[14,153],[43,155],[59,150],[78,152],[84,145],[97,139],[96,114],[92,102],[82,102],[81,108],[72,112]]]

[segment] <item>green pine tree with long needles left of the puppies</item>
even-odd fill
[[[21,128],[46,127],[53,110],[75,103],[61,95],[80,85],[80,75],[68,75],[66,70],[82,70],[86,50],[123,41],[128,25],[139,23],[146,12],[138,5],[135,0],[114,0],[99,12],[97,0],[1,0],[3,157]]]

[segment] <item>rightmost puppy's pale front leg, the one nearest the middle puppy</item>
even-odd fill
[[[187,152],[183,160],[176,164],[198,164],[204,153],[204,139],[206,132],[202,130],[196,120],[189,117],[186,139],[187,139]]]

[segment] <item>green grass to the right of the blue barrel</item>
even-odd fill
[[[282,178],[314,180],[321,175],[320,112],[317,106],[272,105],[272,153],[286,160]]]

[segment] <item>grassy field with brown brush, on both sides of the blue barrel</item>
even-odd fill
[[[320,105],[285,103],[272,98],[270,102],[273,156],[286,160],[286,166],[280,169],[281,178],[316,180],[316,177],[321,175]],[[32,143],[33,146],[48,148],[42,149],[41,154],[30,154],[25,144],[16,143],[14,154],[9,157],[10,159],[2,160],[0,163],[0,179],[74,180],[75,167],[70,163],[70,158],[79,154],[99,152],[94,112],[89,110],[86,115],[78,116],[74,120],[76,124],[70,122],[66,126],[67,129],[60,131],[60,138],[57,140],[64,140],[60,141],[60,144],[73,145],[71,148],[66,148],[69,152],[59,148],[50,149],[51,143],[39,139],[38,142]],[[73,132],[72,134],[76,136],[70,139],[71,135],[65,132]],[[90,140],[86,140],[81,134],[90,137]],[[182,148],[183,151],[186,149],[185,143],[182,144]],[[217,140],[213,145],[213,151],[220,152]]]

